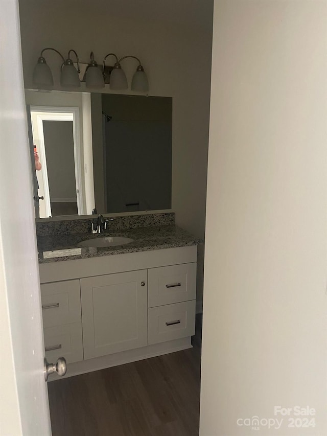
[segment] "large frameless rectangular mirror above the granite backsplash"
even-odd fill
[[[171,98],[26,90],[26,101],[37,217],[171,208]]]

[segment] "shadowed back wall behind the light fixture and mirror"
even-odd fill
[[[45,47],[63,54],[74,48],[84,62],[91,50],[99,63],[109,52],[141,58],[149,76],[150,94],[173,97],[172,209],[177,224],[203,237],[212,0],[201,5],[190,0],[142,0],[137,4],[128,0],[21,0],[20,20],[28,88],[32,87],[33,67]],[[55,87],[60,89],[60,58],[52,52],[45,55]],[[110,64],[112,59],[108,61]],[[131,59],[124,63],[129,83],[135,67]],[[107,91],[107,87],[101,90]],[[201,283],[201,270],[199,273]]]

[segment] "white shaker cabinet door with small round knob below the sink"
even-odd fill
[[[148,345],[147,270],[81,279],[84,359]]]

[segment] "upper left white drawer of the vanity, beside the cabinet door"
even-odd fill
[[[43,327],[81,322],[80,281],[41,285]]]

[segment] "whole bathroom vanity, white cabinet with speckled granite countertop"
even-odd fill
[[[106,235],[133,242],[111,247],[83,246],[103,237],[84,221],[39,226],[45,355],[65,357],[66,377],[191,347],[202,241],[172,224],[174,214],[158,215],[153,226],[146,215],[117,217]]]

